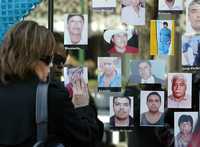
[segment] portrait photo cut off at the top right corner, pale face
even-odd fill
[[[186,33],[200,33],[200,1],[187,0],[186,5]]]

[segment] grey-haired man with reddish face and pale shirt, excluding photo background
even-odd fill
[[[172,94],[168,96],[168,108],[191,108],[191,98],[186,93],[187,81],[183,74],[176,74],[172,80]]]

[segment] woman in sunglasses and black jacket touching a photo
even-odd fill
[[[33,21],[19,22],[6,34],[0,50],[1,147],[36,142],[36,89],[39,81],[48,81],[55,44],[53,34]],[[87,85],[82,79],[73,83],[72,99],[62,83],[49,83],[48,141],[94,147],[103,130],[88,105]]]

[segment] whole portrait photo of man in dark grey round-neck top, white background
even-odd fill
[[[140,93],[140,125],[164,125],[164,91],[141,91]],[[146,109],[144,104],[146,103]]]

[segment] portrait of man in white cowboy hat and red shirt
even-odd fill
[[[108,29],[103,33],[108,44],[107,53],[110,55],[136,54],[138,49],[138,34],[134,29]]]

